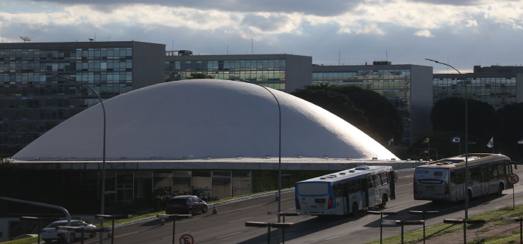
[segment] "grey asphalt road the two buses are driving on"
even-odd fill
[[[523,167],[515,173],[522,174]],[[430,201],[414,201],[412,197],[412,170],[398,172],[396,200],[387,204],[385,211],[397,212],[398,215],[384,217],[386,220],[420,220],[421,215],[410,215],[409,211],[439,211],[437,215],[427,215],[427,226],[439,224],[444,218],[463,218],[464,202],[451,204],[432,204]],[[515,188],[516,204],[523,204],[522,183]],[[469,215],[484,213],[503,206],[512,206],[513,190],[506,190],[503,196],[485,196],[473,199],[469,203]],[[282,194],[282,212],[295,213],[294,192]],[[275,216],[267,212],[277,212],[278,202],[275,197],[261,197],[234,204],[218,206],[218,214],[209,212],[195,213],[192,219],[176,220],[175,243],[189,234],[194,243],[267,243],[267,229],[245,227],[245,222],[277,222]],[[285,243],[366,243],[379,240],[379,215],[360,213],[356,218],[335,216],[317,218],[312,216],[287,217],[285,222],[294,223],[294,227],[285,230]],[[139,224],[115,229],[114,243],[172,243],[172,221],[160,226],[160,220],[151,220]],[[419,229],[418,226],[406,226],[405,231]],[[272,229],[271,243],[277,243],[278,230]],[[400,227],[384,227],[384,237],[400,234]],[[98,238],[85,243],[98,243]],[[104,241],[104,243],[110,243]],[[183,243],[183,242],[182,242]]]

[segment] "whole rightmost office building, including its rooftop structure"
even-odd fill
[[[463,78],[467,81],[464,82]],[[467,86],[465,86],[467,84]],[[458,97],[487,102],[494,109],[523,102],[522,66],[474,66],[473,73],[434,74],[434,103]]]

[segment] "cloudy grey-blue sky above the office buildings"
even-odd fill
[[[4,43],[139,40],[313,63],[523,64],[523,3],[498,0],[0,0]],[[251,42],[252,39],[252,42]],[[252,45],[251,45],[252,43]],[[434,72],[446,73],[435,65]]]

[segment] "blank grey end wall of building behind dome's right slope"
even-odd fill
[[[432,132],[432,66],[411,68],[411,144]]]

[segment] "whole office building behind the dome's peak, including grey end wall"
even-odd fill
[[[192,52],[168,51],[165,56],[165,79],[187,79],[192,73],[214,79],[243,80],[291,93],[310,85],[311,56],[292,54],[195,55]]]

